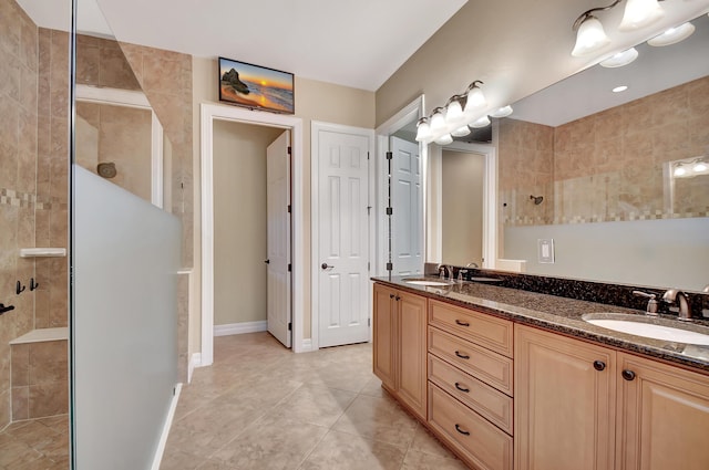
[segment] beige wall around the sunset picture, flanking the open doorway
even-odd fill
[[[189,321],[189,344],[191,354],[201,351],[201,321],[202,311],[201,293],[197,292],[201,285],[201,250],[199,221],[201,221],[201,188],[199,188],[199,104],[218,103],[217,94],[217,64],[216,59],[193,58],[193,97],[194,113],[193,127],[194,135],[194,160],[193,170],[195,175],[194,198],[195,198],[195,295],[193,313]],[[304,121],[302,152],[304,161],[295,161],[294,165],[301,165],[305,175],[304,181],[304,203],[305,219],[310,220],[310,128],[312,121],[321,121],[348,126],[373,128],[374,127],[374,93],[363,90],[356,90],[346,86],[333,85],[296,76],[296,117]],[[225,105],[228,106],[228,105]],[[294,145],[298,145],[294,143]],[[305,252],[306,271],[310,270],[310,226],[305,228],[305,240],[301,249]],[[310,276],[304,280],[306,312],[305,312],[305,336],[310,337]],[[297,338],[296,338],[297,340]]]

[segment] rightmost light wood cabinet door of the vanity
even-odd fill
[[[709,376],[618,353],[616,470],[709,469]]]

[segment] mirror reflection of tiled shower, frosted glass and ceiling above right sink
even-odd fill
[[[709,18],[692,23],[684,42],[641,44],[629,65],[513,104],[499,122],[501,258],[544,275],[709,282]],[[553,263],[541,240],[554,240]]]

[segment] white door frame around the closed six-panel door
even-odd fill
[[[318,143],[318,133],[320,130],[328,130],[328,132],[340,133],[340,134],[356,134],[359,136],[366,135],[369,138],[368,199],[369,199],[370,207],[374,206],[373,201],[376,196],[374,185],[372,185],[372,181],[374,180],[374,167],[376,167],[372,160],[372,158],[376,158],[374,157],[374,130],[367,129],[363,127],[345,126],[341,124],[331,124],[331,123],[325,123],[320,121],[312,121],[311,127],[310,127],[310,283],[311,283],[310,336],[311,336],[312,349],[319,348],[318,337],[320,335],[320,310],[319,310],[320,305],[319,305],[319,297],[318,297],[318,295],[320,294],[319,286],[318,286],[318,275],[320,273],[320,271],[318,270],[318,267],[320,265],[320,260],[319,260],[318,250],[317,250],[318,241],[319,241],[318,229],[319,229],[319,222],[320,222],[320,218],[318,213],[319,212],[318,210],[318,195],[319,195],[318,175],[320,170],[320,163],[319,163],[320,146]],[[373,230],[372,224],[373,224],[373,219],[370,211],[369,228],[368,228],[368,233],[369,233],[368,257],[369,257],[370,268],[367,273],[368,276],[372,275],[371,262],[373,259],[376,259],[376,247],[374,247],[376,231]],[[371,320],[372,290],[368,289],[367,292],[368,292],[367,304],[370,305],[368,310],[369,310],[369,317]],[[371,321],[370,321],[369,342],[372,341],[371,332],[372,330],[371,330]]]

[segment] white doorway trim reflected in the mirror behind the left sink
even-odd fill
[[[485,157],[485,170],[483,175],[483,264],[481,268],[495,269],[497,263],[497,154],[495,147],[485,144],[466,144],[461,142],[454,142],[453,144],[444,147],[446,150],[453,152],[472,152]],[[438,150],[442,156],[442,152]],[[442,164],[442,157],[438,158],[438,165]],[[441,176],[441,168],[436,173]],[[441,189],[439,182],[439,189]],[[435,223],[436,240],[438,243],[434,247],[438,254],[436,258],[427,261],[441,261],[442,253],[442,221],[441,217],[441,197],[436,198],[438,202],[438,222]]]

